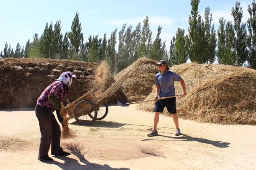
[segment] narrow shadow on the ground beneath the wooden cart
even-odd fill
[[[78,123],[78,121],[74,121],[70,123],[72,125],[78,125],[78,126],[87,126],[87,127],[108,127],[108,128],[119,128],[124,125],[127,125],[126,123],[118,123],[116,121],[94,121],[94,123],[90,125],[81,125]]]

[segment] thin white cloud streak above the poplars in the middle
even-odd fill
[[[139,18],[133,18],[133,19],[120,19],[120,20],[109,20],[107,23],[112,25],[123,25],[126,23],[126,25],[134,25],[138,24],[139,22],[143,25],[143,20],[146,17],[139,17]],[[174,19],[167,18],[167,17],[161,17],[161,16],[149,16],[149,25],[173,25]]]

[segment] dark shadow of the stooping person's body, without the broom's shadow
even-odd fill
[[[58,159],[63,160],[64,163],[61,162],[57,162],[57,161],[53,161],[53,162],[45,162],[47,164],[54,164],[57,165],[58,167],[60,167],[61,169],[65,170],[65,169],[82,169],[82,170],[130,170],[130,168],[112,168],[111,166],[104,164],[104,165],[100,165],[100,164],[95,164],[95,163],[91,163],[88,160],[86,160],[83,157],[78,157],[80,159],[80,162],[82,164],[80,164],[80,162],[78,162],[78,160],[74,159],[74,158],[69,158],[66,156],[61,156],[58,157]]]

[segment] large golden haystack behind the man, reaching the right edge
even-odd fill
[[[170,68],[186,84],[187,96],[176,98],[179,117],[200,123],[256,125],[256,70],[222,64],[180,64]],[[176,94],[182,93],[179,82]],[[152,99],[155,91],[146,99]],[[153,111],[154,102],[140,105]],[[167,111],[164,111],[167,113]]]

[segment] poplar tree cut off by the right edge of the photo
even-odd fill
[[[252,6],[248,5],[248,12],[250,18],[247,20],[248,37],[246,44],[249,49],[248,53],[248,65],[249,67],[256,69],[256,3],[252,1]]]

